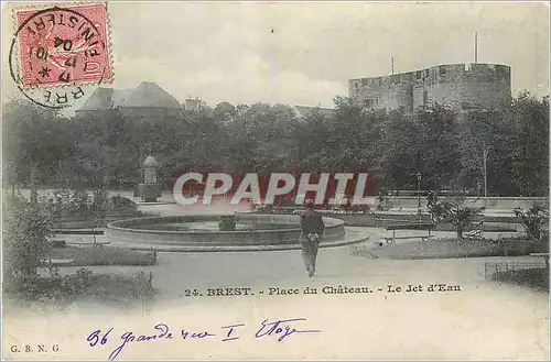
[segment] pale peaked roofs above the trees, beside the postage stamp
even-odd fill
[[[152,81],[142,81],[133,89],[98,88],[76,116],[98,114],[118,109],[125,116],[151,118],[177,114],[182,106],[168,91]]]

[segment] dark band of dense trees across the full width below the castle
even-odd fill
[[[456,113],[441,105],[367,111],[336,98],[334,112],[298,114],[284,105],[222,102],[156,118],[118,110],[75,118],[30,102],[4,107],[4,182],[29,184],[31,168],[50,187],[131,186],[148,155],[165,187],[190,169],[367,172],[375,187],[473,189],[487,151],[490,195],[548,193],[549,101],[528,94],[500,112]],[[372,189],[377,194],[377,189]]]

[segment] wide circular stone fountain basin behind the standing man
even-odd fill
[[[174,246],[251,246],[299,244],[300,216],[298,215],[239,215],[235,231],[220,231],[223,215],[171,216],[127,219],[107,226],[106,237],[111,244],[132,248]],[[323,218],[324,241],[345,235],[344,221]]]

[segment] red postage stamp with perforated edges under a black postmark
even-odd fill
[[[33,86],[112,80],[106,3],[15,11],[20,84]]]

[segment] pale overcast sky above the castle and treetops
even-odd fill
[[[348,79],[390,74],[392,57],[396,73],[472,63],[475,32],[478,63],[511,66],[514,96],[549,94],[543,2],[109,2],[108,9],[112,87],[154,81],[180,101],[332,107],[335,96],[347,96]]]

